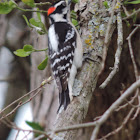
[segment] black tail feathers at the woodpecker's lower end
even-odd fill
[[[69,97],[69,89],[67,88],[65,91],[62,91],[62,93],[59,93],[59,108],[57,110],[57,113],[59,112],[61,106],[64,106],[64,109],[66,110],[69,104],[70,97]]]

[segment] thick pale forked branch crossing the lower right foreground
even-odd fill
[[[136,81],[135,83],[133,83],[110,107],[108,110],[106,110],[106,112],[100,117],[99,120],[94,121],[94,122],[90,122],[90,123],[83,123],[83,124],[76,124],[76,125],[71,125],[71,126],[67,126],[67,127],[61,127],[61,128],[56,128],[55,130],[52,130],[53,133],[58,133],[58,132],[63,132],[63,131],[68,131],[68,130],[75,130],[75,129],[80,129],[80,128],[89,128],[89,127],[94,127],[94,131],[92,133],[92,137],[91,140],[95,140],[98,132],[100,130],[101,125],[111,116],[111,114],[115,111],[115,109],[123,103],[123,101],[125,101],[125,99],[130,96],[131,94],[133,94],[133,92],[140,87],[140,80]],[[130,115],[132,114],[132,111],[134,111],[134,109],[132,109],[128,116],[126,117],[124,124],[126,124],[127,118],[130,117]]]

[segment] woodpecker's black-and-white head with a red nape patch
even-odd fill
[[[68,20],[70,2],[71,0],[69,0],[68,3],[64,0],[58,1],[48,9],[48,16],[51,20],[51,23]]]

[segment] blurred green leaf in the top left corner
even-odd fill
[[[0,2],[0,14],[8,14],[16,7],[15,3],[12,1],[9,2]]]

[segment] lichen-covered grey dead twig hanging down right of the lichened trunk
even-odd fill
[[[112,80],[114,75],[118,72],[119,70],[119,64],[120,64],[120,56],[122,52],[122,45],[123,45],[123,28],[122,28],[122,18],[121,18],[121,12],[119,11],[117,14],[117,25],[118,25],[118,48],[115,54],[115,63],[114,63],[114,68],[109,74],[109,76],[106,78],[106,80],[100,85],[100,88],[105,88],[108,83]]]

